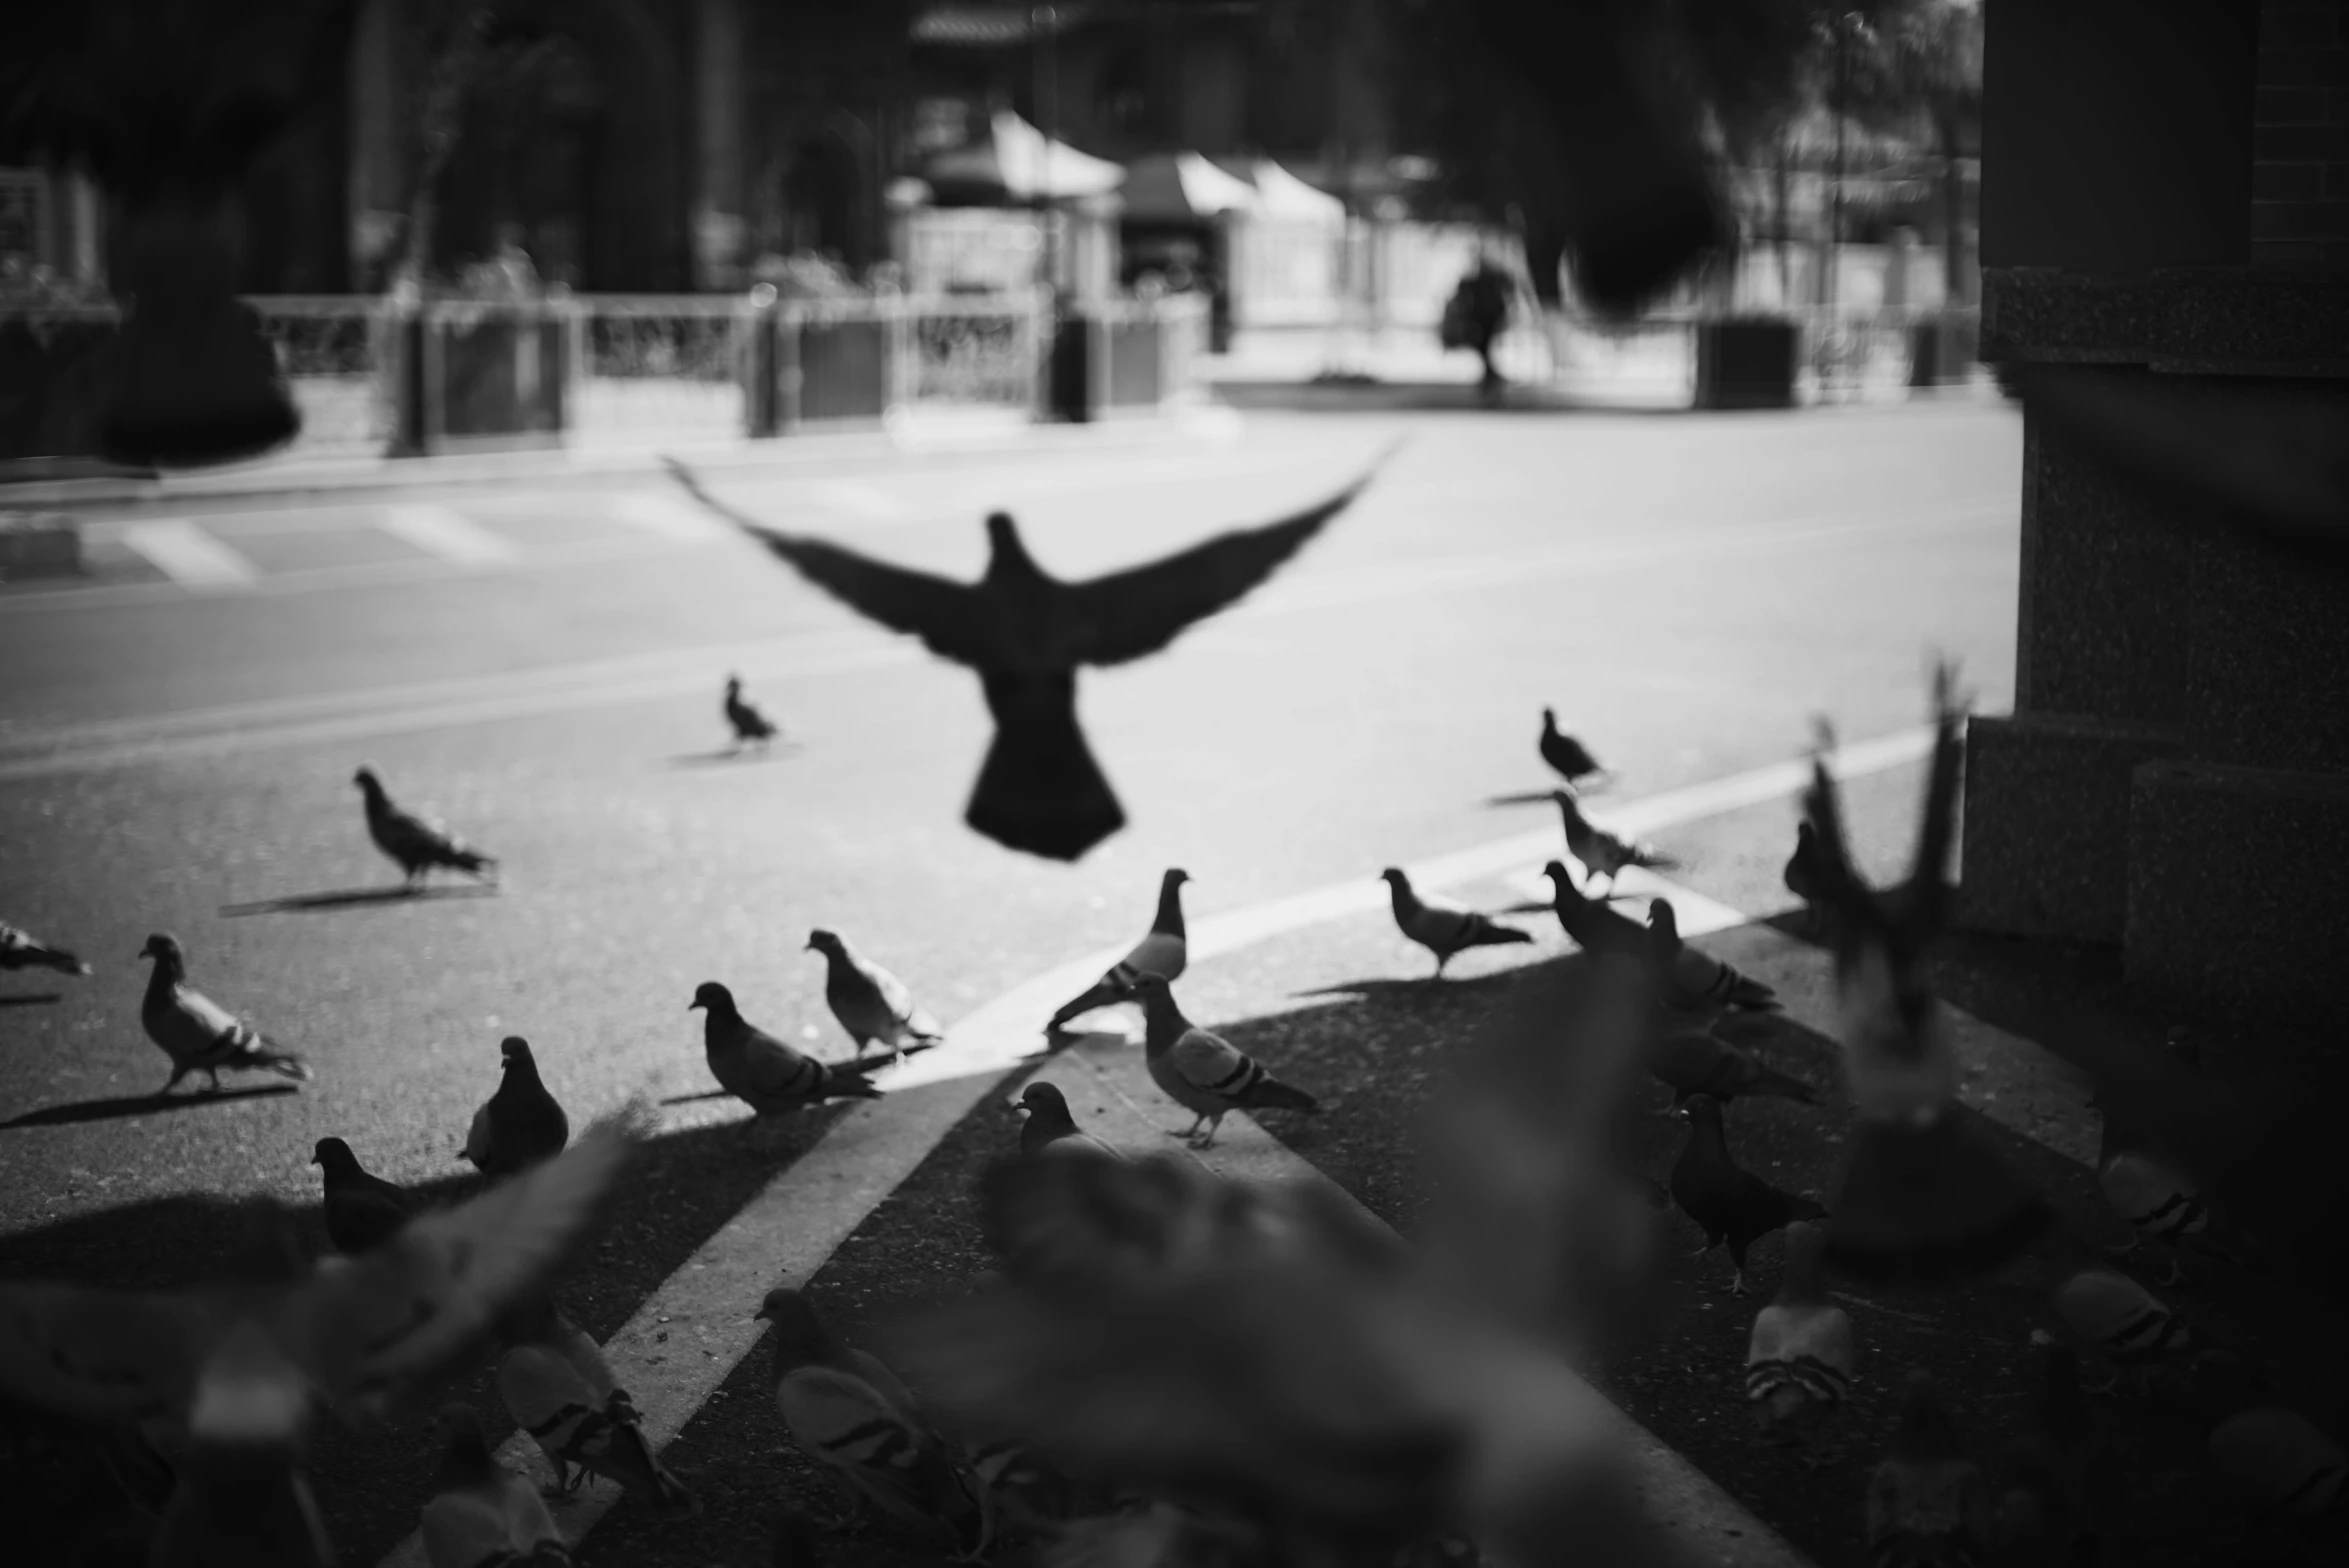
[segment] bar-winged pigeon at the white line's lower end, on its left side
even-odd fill
[[[576,1493],[590,1474],[651,1500],[665,1514],[698,1509],[644,1437],[644,1415],[618,1387],[604,1350],[547,1293],[524,1298],[500,1324],[498,1397],[554,1465],[554,1491]]]

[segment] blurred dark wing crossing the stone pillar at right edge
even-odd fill
[[[2206,385],[2112,366],[2018,371],[2022,406],[2163,514],[2349,568],[2349,399],[2300,380]]]

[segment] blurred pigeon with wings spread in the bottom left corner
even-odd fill
[[[291,1221],[263,1204],[258,1275],[162,1293],[5,1284],[0,1394],[183,1434],[162,1523],[179,1545],[157,1545],[157,1563],[327,1563],[301,1469],[312,1406],[376,1430],[413,1418],[571,1253],[641,1124],[632,1108],[359,1258],[303,1265]]]

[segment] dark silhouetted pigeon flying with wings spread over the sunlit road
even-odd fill
[[[1076,718],[1076,671],[1149,657],[1238,601],[1344,512],[1391,453],[1393,446],[1332,500],[1297,516],[1085,582],[1045,573],[1003,512],[987,516],[987,575],[951,582],[829,540],[763,528],[712,500],[684,465],[672,460],[669,469],[815,587],[975,669],[996,739],[963,822],[1010,850],[1073,861],[1125,826]]]

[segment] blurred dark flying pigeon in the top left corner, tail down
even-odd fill
[[[331,99],[355,0],[0,5],[0,162],[85,171],[110,197],[122,331],[99,444],[124,462],[226,462],[301,418],[237,303],[237,190]]]

